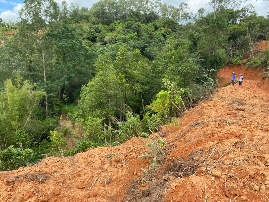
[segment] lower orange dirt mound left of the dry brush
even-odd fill
[[[119,147],[98,147],[68,158],[49,157],[31,167],[0,172],[0,201],[122,198],[128,182],[146,169],[147,161],[136,159],[144,150],[142,140],[134,138]]]

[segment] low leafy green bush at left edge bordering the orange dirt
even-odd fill
[[[14,148],[13,145],[0,151],[0,169],[14,170],[26,166],[29,155],[33,154],[32,149]]]

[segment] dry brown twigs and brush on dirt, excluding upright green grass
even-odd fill
[[[132,180],[128,187],[125,201],[162,201],[171,181],[195,175],[201,167],[208,167],[207,161],[198,156],[199,152],[192,152],[187,158],[169,159],[157,169],[144,170],[138,179]],[[196,157],[196,158],[195,158]],[[195,160],[196,159],[196,160]]]

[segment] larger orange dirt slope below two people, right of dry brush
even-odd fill
[[[269,200],[268,94],[255,81],[242,86],[219,89],[180,119],[180,128],[169,128],[171,158],[200,152],[209,166],[174,180],[163,201],[204,201],[205,184],[208,201]]]

